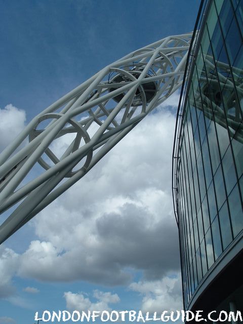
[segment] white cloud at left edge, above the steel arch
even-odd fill
[[[0,152],[24,129],[25,111],[12,104],[0,108]]]

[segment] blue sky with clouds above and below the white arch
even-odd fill
[[[0,149],[107,64],[192,31],[199,0],[0,1]],[[0,324],[182,309],[171,162],[179,93],[0,246]]]

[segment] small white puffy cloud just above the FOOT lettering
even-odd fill
[[[84,294],[74,294],[71,292],[64,293],[64,298],[66,300],[66,307],[70,310],[79,310],[79,311],[103,311],[111,310],[109,304],[118,303],[120,301],[117,294],[111,294],[110,292],[101,292],[95,290],[93,292],[93,297],[97,300],[96,302],[91,302],[88,297],[85,297]]]

